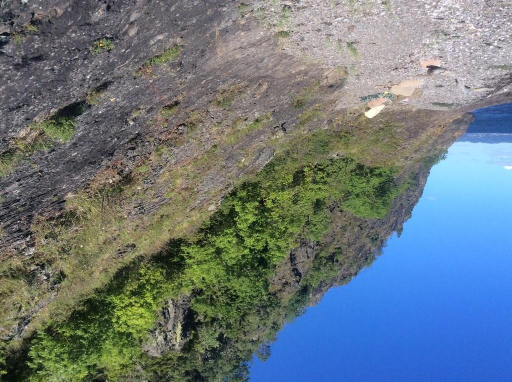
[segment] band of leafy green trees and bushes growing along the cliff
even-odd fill
[[[334,201],[355,216],[381,218],[401,189],[392,167],[327,158],[326,134],[311,137],[310,145],[311,158],[292,151],[277,156],[234,189],[193,238],[174,241],[153,261],[124,269],[68,320],[40,331],[30,345],[27,377],[116,380],[142,364],[138,373],[150,378],[193,380],[199,373],[208,380],[244,380],[243,362],[268,339],[258,333],[267,328],[271,338],[271,312],[283,305],[270,293],[269,279],[297,239],[322,238],[330,224],[327,206]],[[314,161],[315,156],[325,159]],[[192,296],[194,317],[185,347],[158,359],[145,355],[157,310],[165,299],[183,295]],[[212,370],[205,360],[227,346],[234,355],[221,371]]]

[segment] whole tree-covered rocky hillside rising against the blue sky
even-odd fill
[[[339,152],[333,156],[331,150],[325,151],[330,146],[324,146],[328,141],[323,134],[312,134],[309,141],[317,143],[309,149],[279,155],[278,164],[272,161],[262,174],[229,193],[197,239],[171,241],[150,261],[126,267],[108,287],[75,309],[69,319],[53,319],[35,339],[26,338],[33,360],[30,369],[24,366],[21,353],[20,360],[11,358],[9,375],[17,375],[20,380],[34,372],[43,379],[81,379],[79,376],[87,373],[97,380],[125,380],[129,376],[136,380],[216,380],[226,376],[229,380],[245,380],[245,361],[253,352],[263,351],[258,349],[272,340],[285,320],[300,314],[305,304],[315,303],[333,284],[350,281],[361,267],[373,261],[387,238],[400,230],[421,195],[430,167],[442,159],[443,150],[460,136],[467,123],[468,119],[449,124],[423,140],[424,145],[414,159],[406,161],[396,181],[388,177],[391,173],[386,167],[366,167]],[[327,138],[345,141],[346,126]],[[396,131],[387,133],[388,138],[397,138]],[[385,154],[389,152],[380,152]],[[295,180],[289,183],[294,190],[290,194],[288,186],[282,189],[272,184],[287,184],[286,171],[281,168],[289,168],[288,158],[293,157],[306,162],[292,167]],[[336,163],[339,167],[329,175],[329,166]],[[319,172],[308,177],[307,170],[303,172],[308,168]],[[327,184],[324,176],[331,179]],[[373,186],[368,188],[370,184]],[[267,187],[274,191],[266,193]],[[251,196],[254,192],[255,197]],[[350,198],[353,192],[357,196],[350,202],[347,196]],[[274,198],[280,205],[287,205],[286,200],[292,204],[288,208],[272,207]],[[311,209],[305,203],[308,199],[314,206],[333,201],[323,211]],[[301,207],[297,210],[294,204]],[[309,211],[307,218],[304,209]],[[292,241],[285,239],[290,232],[288,225],[297,224],[292,230],[298,233],[299,246],[287,254],[292,246]],[[275,271],[271,260],[274,256]],[[166,277],[159,276],[161,272]],[[185,285],[191,280],[194,287],[187,289]],[[162,292],[167,296],[163,303],[163,297],[159,297]],[[155,303],[150,303],[152,296],[156,296]],[[119,308],[112,303],[120,304]],[[151,319],[155,310],[158,314]],[[148,338],[144,336],[143,344],[127,341],[126,333],[121,337],[116,334],[124,330],[126,322],[131,323],[130,332],[137,330],[145,320],[145,311],[151,312],[147,328],[152,329]],[[131,318],[126,321],[126,317]],[[110,345],[103,346],[109,343],[114,349],[125,349],[110,355],[114,365],[100,361],[105,359],[105,351],[112,351]],[[127,359],[126,349],[127,354],[133,354]]]

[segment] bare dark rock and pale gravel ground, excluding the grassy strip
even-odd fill
[[[393,107],[465,106],[502,91],[512,69],[510,5],[459,3],[4,1],[4,153],[33,121],[86,100],[95,89],[104,94],[78,117],[71,142],[27,153],[30,160],[3,171],[3,242],[23,246],[34,213],[59,209],[67,193],[119,158],[129,171],[155,141],[168,139],[169,131],[147,124],[167,104],[179,102],[169,130],[191,111],[208,109],[210,123],[201,126],[197,147],[176,156],[206,149],[215,139],[211,122],[225,124],[220,110],[208,108],[221,86],[254,89],[233,111],[247,110],[248,119],[277,113],[272,128],[292,125],[290,95],[314,81],[335,85],[341,75],[344,91],[329,89],[335,108],[411,78],[424,85]],[[96,53],[102,38],[113,47]],[[175,46],[183,47],[175,62],[134,76],[147,59]],[[426,75],[420,66],[426,59],[441,60],[447,71]],[[488,90],[460,91],[456,78]]]

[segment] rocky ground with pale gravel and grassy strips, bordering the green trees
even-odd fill
[[[5,343],[196,232],[233,186],[315,131],[345,137],[333,155],[423,181],[391,217],[304,241],[273,291],[296,293],[314,249],[336,240],[362,264],[419,197],[419,163],[463,130],[452,122],[512,99],[508,2],[0,4]],[[369,120],[375,99],[386,107]]]

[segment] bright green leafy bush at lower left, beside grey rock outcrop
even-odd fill
[[[30,380],[89,380],[104,370],[117,379],[141,356],[166,291],[164,273],[141,266],[130,282],[87,300],[64,324],[39,332],[30,348]]]

